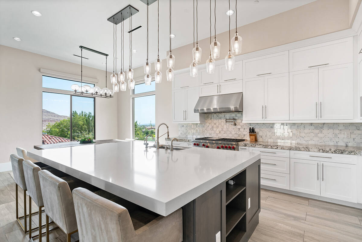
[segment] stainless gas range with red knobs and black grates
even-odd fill
[[[245,141],[245,139],[203,137],[196,138],[192,142],[195,147],[221,150],[239,150],[238,143],[241,141]]]

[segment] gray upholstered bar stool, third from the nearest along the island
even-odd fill
[[[42,191],[40,188],[39,174],[41,168],[31,162],[30,160],[24,160],[22,162],[25,176],[26,187],[28,188],[29,194],[29,240],[33,242],[33,239],[39,236],[39,242],[42,241],[42,235],[46,232],[42,233],[42,227],[46,226],[46,224],[42,224],[42,208],[44,207]],[[34,203],[39,208],[39,234],[35,236],[31,236],[31,199],[33,199]],[[50,231],[56,229],[52,228]],[[36,228],[35,228],[36,229]]]

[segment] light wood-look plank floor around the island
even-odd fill
[[[23,206],[19,189],[19,214],[24,213]],[[32,211],[36,210],[37,206],[33,204]],[[262,189],[259,217],[250,242],[362,241],[361,209]],[[37,225],[38,216],[33,216],[32,226]],[[51,242],[65,242],[66,236],[56,229],[51,232],[50,239]],[[27,241],[28,235],[22,232],[15,219],[12,173],[0,172],[0,242]]]

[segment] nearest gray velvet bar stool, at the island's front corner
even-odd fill
[[[81,242],[182,241],[182,209],[139,227],[125,207],[85,188],[75,188],[72,193]]]

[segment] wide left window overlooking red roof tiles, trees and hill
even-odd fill
[[[95,100],[73,95],[70,86],[75,83],[80,85],[72,80],[43,76],[43,144],[95,138]]]

